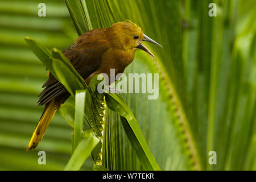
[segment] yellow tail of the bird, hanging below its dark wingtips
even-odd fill
[[[30,139],[30,143],[28,143],[27,151],[31,149],[34,150],[36,146],[38,146],[39,142],[44,137],[44,133],[46,132],[49,123],[52,121],[52,118],[56,113],[56,110],[57,106],[54,100],[50,102],[48,105],[46,105],[42,117],[38,122],[38,126],[36,126],[36,129]]]

